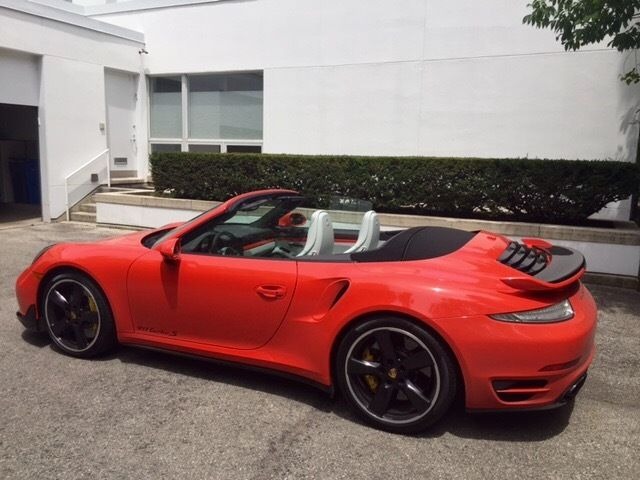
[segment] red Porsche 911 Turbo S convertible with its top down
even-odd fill
[[[426,429],[456,395],[513,410],[578,392],[596,329],[580,253],[389,231],[374,211],[349,228],[303,201],[252,192],[186,223],[49,246],[17,280],[18,318],[77,357],[128,344],[293,375],[393,432]]]

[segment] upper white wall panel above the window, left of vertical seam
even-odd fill
[[[226,1],[93,18],[144,32],[150,73],[185,73],[415,60],[422,52],[424,5]]]

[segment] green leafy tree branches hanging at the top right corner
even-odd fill
[[[605,39],[619,52],[640,48],[640,0],[533,0],[528,7],[522,21],[551,28],[565,50]],[[640,83],[640,68],[636,64],[620,79]]]

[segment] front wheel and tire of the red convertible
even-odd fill
[[[85,275],[65,272],[51,278],[40,311],[51,341],[67,355],[95,357],[117,344],[107,299]]]

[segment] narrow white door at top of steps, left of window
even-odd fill
[[[135,115],[138,75],[106,70],[104,80],[111,169],[114,176],[137,176]]]

